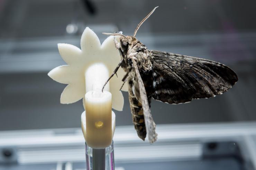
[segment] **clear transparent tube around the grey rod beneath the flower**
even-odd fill
[[[105,149],[92,149],[85,142],[85,154],[87,170],[115,170],[113,141]]]

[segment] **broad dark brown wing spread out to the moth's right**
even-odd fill
[[[210,60],[152,50],[153,98],[170,104],[222,94],[237,81],[229,67]]]

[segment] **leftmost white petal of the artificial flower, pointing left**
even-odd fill
[[[74,79],[71,70],[72,69],[69,65],[59,66],[52,69],[48,73],[48,76],[59,83],[68,84],[71,82],[72,79]]]

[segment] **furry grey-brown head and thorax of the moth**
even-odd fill
[[[146,46],[138,41],[136,37],[126,36],[128,39],[128,48],[124,50],[125,61],[121,65],[121,67],[129,72],[132,69],[132,60],[135,59],[138,69],[140,71],[148,71],[152,69],[152,57],[150,51],[146,48]],[[127,42],[127,40],[123,37],[120,38],[120,43],[123,41]]]

